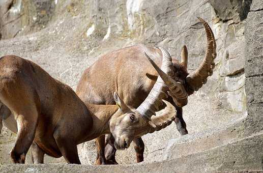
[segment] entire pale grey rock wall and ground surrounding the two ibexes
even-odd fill
[[[143,136],[143,164],[63,168],[179,172],[263,169],[262,9],[259,0],[4,0],[0,2],[0,56],[16,54],[30,59],[73,89],[83,70],[99,55],[136,43],[162,46],[178,59],[186,45],[191,72],[206,50],[205,32],[196,19],[200,16],[215,34],[217,58],[213,76],[184,107],[189,134],[180,136],[172,124]],[[2,130],[0,163],[11,163],[8,152],[14,140],[15,134]],[[94,163],[94,141],[79,145],[78,151],[82,163]],[[117,161],[134,163],[132,147],[118,151]],[[31,162],[30,152],[26,162]],[[63,158],[45,157],[45,163],[54,162],[65,163]],[[16,168],[52,170],[2,166],[0,171]]]

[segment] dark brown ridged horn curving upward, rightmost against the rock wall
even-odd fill
[[[214,59],[216,58],[216,41],[214,34],[206,21],[200,17],[197,18],[202,22],[207,33],[207,51],[198,69],[186,78],[188,85],[195,91],[198,91],[201,86],[207,82],[208,76],[213,74],[213,69],[215,67]]]

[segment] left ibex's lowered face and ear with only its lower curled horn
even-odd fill
[[[118,94],[115,93],[114,97],[120,106],[110,121],[110,130],[115,138],[114,146],[116,149],[128,148],[134,138],[159,131],[170,125],[176,118],[176,109],[165,100],[163,101],[167,106],[164,112],[159,116],[152,116],[149,120],[138,110],[125,105]]]

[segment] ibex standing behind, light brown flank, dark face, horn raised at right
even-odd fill
[[[203,62],[192,74],[187,71],[187,49],[182,49],[181,63],[172,59],[172,78],[177,83],[177,89],[170,87],[169,97],[166,99],[177,108],[177,117],[174,120],[179,132],[187,134],[186,123],[182,117],[182,106],[187,104],[187,97],[198,91],[207,82],[215,67],[216,42],[214,34],[206,21],[199,18],[207,34],[207,52]],[[144,51],[157,65],[161,65],[162,53],[157,48],[144,45],[135,45],[106,53],[97,62],[87,68],[78,83],[76,93],[84,102],[92,104],[114,104],[112,93],[118,91],[124,102],[131,107],[139,107],[152,90],[157,79],[157,73],[148,65],[144,58]],[[103,69],[103,70],[102,70]],[[174,92],[177,91],[177,92]],[[106,140],[106,158],[104,156],[105,136],[96,139],[98,147],[97,164],[118,164],[115,161],[114,137]],[[143,161],[144,143],[141,138],[134,139],[137,162]]]

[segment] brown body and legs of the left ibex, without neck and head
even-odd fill
[[[75,92],[18,56],[2,57],[0,67],[0,100],[11,110],[18,127],[17,140],[10,152],[13,162],[24,163],[35,141],[50,156],[65,157],[70,153],[75,156],[65,159],[80,163],[77,153],[69,148],[76,148],[83,141],[83,136],[92,129],[93,120]]]

